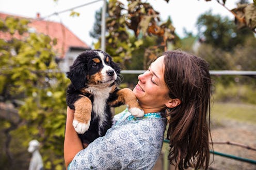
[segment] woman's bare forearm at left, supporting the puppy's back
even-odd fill
[[[67,122],[64,139],[64,159],[66,167],[73,160],[75,155],[83,149],[81,140],[79,139],[73,125],[74,110],[67,108]]]

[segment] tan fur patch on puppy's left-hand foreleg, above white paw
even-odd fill
[[[82,97],[74,103],[75,115],[74,119],[81,123],[90,123],[92,104],[89,98]]]

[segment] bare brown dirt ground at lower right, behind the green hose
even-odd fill
[[[248,145],[256,148],[256,125],[241,123],[233,120],[222,120],[218,126],[212,128],[212,138],[214,142],[235,142]],[[214,150],[216,152],[243,157],[247,159],[256,160],[256,151],[248,150],[246,148],[227,145],[215,144]],[[212,157],[213,158],[213,157]],[[213,159],[212,159],[213,160]],[[256,165],[234,159],[217,156],[214,157],[214,162],[211,164],[211,169],[225,169],[225,170],[255,170]]]

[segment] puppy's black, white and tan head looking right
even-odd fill
[[[119,66],[110,55],[101,50],[88,50],[79,54],[70,66],[67,77],[76,89],[88,85],[109,85],[117,79]]]

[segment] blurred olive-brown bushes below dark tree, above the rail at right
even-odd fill
[[[255,70],[255,45],[255,37],[247,37],[244,44],[238,44],[230,52],[201,44],[197,55],[210,64],[211,70]]]

